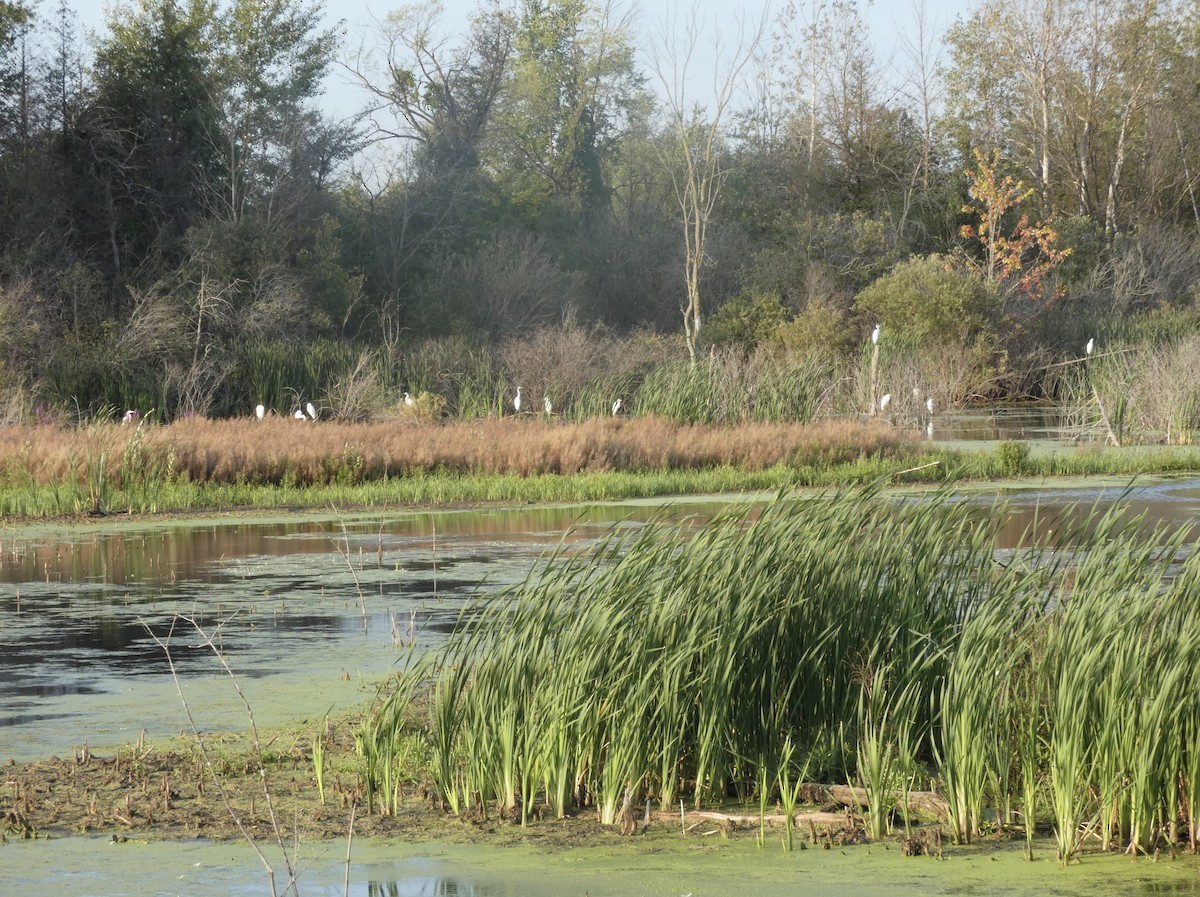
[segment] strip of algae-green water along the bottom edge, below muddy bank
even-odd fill
[[[1032,862],[1021,850],[954,849],[941,861],[905,857],[880,844],[785,853],[752,835],[730,841],[652,832],[553,854],[526,845],[354,842],[301,845],[306,897],[1150,897],[1200,893],[1196,857],[1130,862],[1088,855],[1070,867],[1046,843]],[[274,861],[274,857],[272,857]],[[98,838],[0,844],[6,897],[73,895],[239,895],[268,897],[258,859],[241,844],[110,844]],[[276,890],[284,892],[282,877]]]

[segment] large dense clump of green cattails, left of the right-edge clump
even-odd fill
[[[647,797],[749,799],[826,755],[829,732],[854,744],[878,684],[864,738],[908,763],[943,645],[991,576],[989,535],[946,501],[781,495],[559,553],[409,670],[427,684],[431,775],[452,809],[540,800],[605,824]]]

